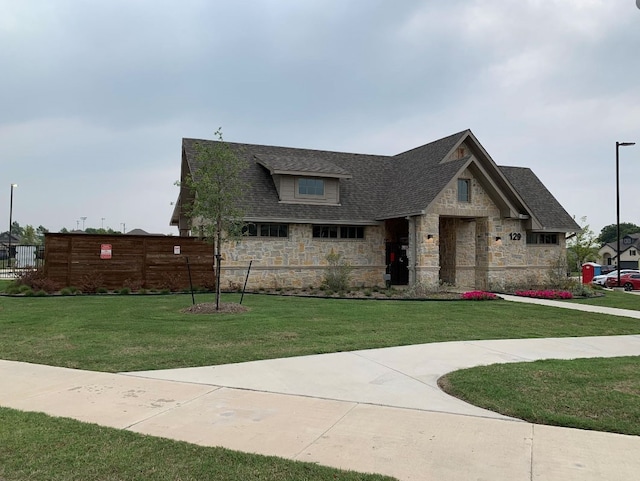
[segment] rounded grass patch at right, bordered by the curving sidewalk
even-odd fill
[[[640,358],[543,360],[455,371],[439,385],[532,423],[640,435]]]

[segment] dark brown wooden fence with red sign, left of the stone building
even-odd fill
[[[213,288],[213,246],[195,237],[46,234],[44,274],[61,287]]]

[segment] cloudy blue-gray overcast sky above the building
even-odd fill
[[[0,0],[0,231],[169,226],[183,137],[393,155],[471,129],[640,225],[635,0]]]

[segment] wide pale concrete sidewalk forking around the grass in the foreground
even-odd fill
[[[640,437],[509,419],[436,384],[479,364],[625,355],[640,355],[640,335],[446,342],[126,374],[0,361],[0,405],[401,480],[625,480],[640,472]]]

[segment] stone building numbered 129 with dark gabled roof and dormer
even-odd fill
[[[183,139],[181,180],[196,172]],[[528,168],[500,167],[470,130],[395,156],[229,143],[248,167],[246,236],[224,246],[223,276],[250,287],[321,283],[332,251],[356,285],[541,284],[579,226]],[[197,195],[185,182],[171,218],[181,236]]]

